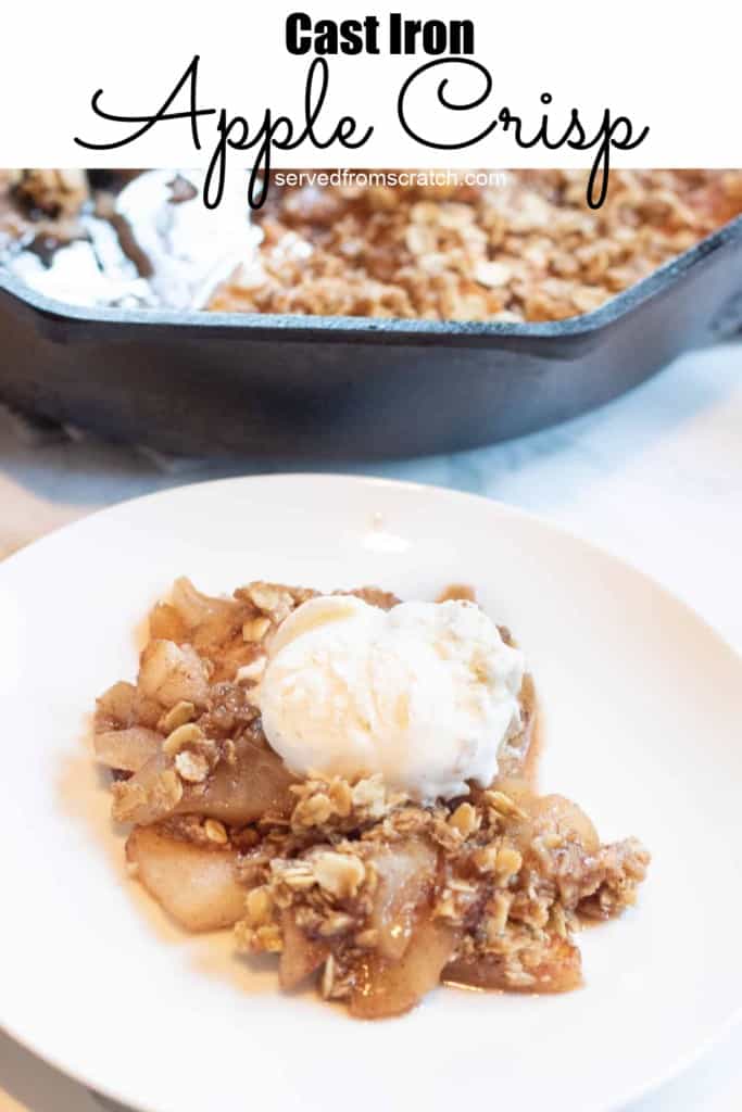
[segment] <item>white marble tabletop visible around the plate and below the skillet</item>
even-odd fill
[[[122,498],[261,469],[191,461],[164,470],[89,440],[28,444],[0,415],[0,553]],[[346,469],[455,487],[550,517],[665,584],[742,651],[740,344],[685,356],[597,413],[512,444]],[[741,1051],[742,1030],[730,1032],[632,1112],[738,1110]],[[0,1035],[0,1112],[96,1106]]]

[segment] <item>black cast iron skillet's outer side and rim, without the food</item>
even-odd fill
[[[176,454],[447,453],[601,405],[742,326],[742,217],[582,317],[81,309],[0,271],[0,399]]]

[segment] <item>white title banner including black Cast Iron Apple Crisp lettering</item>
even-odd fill
[[[706,0],[11,6],[0,165],[742,165],[740,14]],[[17,26],[13,26],[13,24]],[[597,179],[600,182],[600,175]]]

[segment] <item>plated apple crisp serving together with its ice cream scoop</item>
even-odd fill
[[[577,987],[581,923],[634,903],[646,850],[540,794],[537,747],[524,655],[461,588],[179,579],[95,722],[130,871],[165,911],[369,1019],[442,981]]]

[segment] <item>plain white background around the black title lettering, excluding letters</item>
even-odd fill
[[[623,0],[596,4],[452,4],[410,0],[389,7],[347,0],[295,0],[254,4],[226,0],[178,4],[128,0],[70,0],[8,6],[3,13],[0,68],[0,165],[4,166],[175,166],[204,165],[215,142],[214,125],[204,127],[204,150],[194,151],[187,121],[157,125],[135,145],[92,155],[73,143],[120,138],[127,126],[96,119],[90,98],[102,88],[111,111],[150,115],[162,103],[195,53],[201,56],[200,98],[205,107],[226,108],[259,128],[266,108],[300,123],[310,57],[291,57],[284,41],[286,14],[307,11],[319,18],[382,20],[469,18],[475,21],[475,59],[491,71],[493,92],[481,109],[453,113],[459,137],[475,135],[507,105],[535,130],[540,93],[553,95],[554,120],[577,107],[590,130],[603,110],[629,115],[651,131],[634,151],[616,156],[623,166],[742,165],[740,107],[740,8],[729,0],[676,4]],[[29,20],[29,17],[31,21]],[[358,151],[305,146],[277,155],[284,166],[566,166],[590,165],[590,152],[518,149],[498,130],[474,148],[434,151],[405,136],[396,99],[405,78],[427,56],[344,57],[329,59],[330,87],[323,120],[354,115],[375,132]],[[454,67],[449,68],[451,70]],[[443,75],[442,75],[443,76]],[[437,83],[437,81],[435,82]],[[435,108],[434,82],[426,127],[441,135],[452,113]],[[465,96],[475,85],[452,88]],[[561,110],[561,111],[560,111]],[[416,117],[417,118],[417,117]],[[320,121],[320,130],[321,130]],[[245,155],[234,155],[245,165]]]

